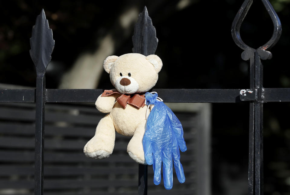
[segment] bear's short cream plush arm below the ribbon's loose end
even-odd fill
[[[115,104],[116,99],[119,94],[112,94],[110,96],[101,97],[101,95],[96,100],[96,108],[102,113],[109,113]]]

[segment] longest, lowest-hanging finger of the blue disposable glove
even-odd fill
[[[172,155],[170,148],[162,151],[162,162],[164,187],[166,190],[170,190],[173,185]]]

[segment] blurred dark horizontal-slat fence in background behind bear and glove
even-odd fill
[[[149,194],[196,194],[197,130],[209,123],[201,108],[175,112],[184,127],[188,150],[182,153],[186,182],[174,176],[174,188],[153,184],[153,169],[148,168]],[[107,159],[91,159],[83,146],[94,135],[104,116],[93,104],[47,104],[44,144],[44,194],[136,194],[138,164],[126,153],[130,137],[116,133],[113,154]],[[32,195],[34,189],[35,104],[0,104],[0,194]],[[209,139],[209,137],[207,137]],[[205,146],[209,147],[209,146]],[[209,167],[207,167],[209,168]],[[208,178],[206,178],[208,180]]]

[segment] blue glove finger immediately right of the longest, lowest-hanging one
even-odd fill
[[[175,141],[175,143],[173,144],[173,148],[172,148],[172,157],[173,157],[173,164],[174,164],[174,168],[175,168],[175,172],[178,178],[178,181],[180,183],[184,183],[185,181],[185,176],[184,176],[184,172],[183,172],[183,167],[181,165],[180,162],[180,152],[179,152],[179,147],[177,145],[177,142]]]

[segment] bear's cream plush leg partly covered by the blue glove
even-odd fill
[[[143,165],[147,165],[142,145],[142,139],[145,133],[145,125],[146,120],[142,121],[137,125],[135,133],[127,147],[127,152],[129,153],[129,156],[136,162]]]

